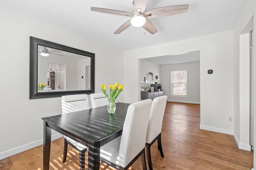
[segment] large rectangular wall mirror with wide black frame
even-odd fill
[[[94,93],[94,53],[30,37],[30,99]]]

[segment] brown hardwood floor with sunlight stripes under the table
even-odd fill
[[[253,151],[238,149],[234,137],[199,129],[200,105],[167,102],[162,126],[160,156],[157,142],[151,146],[154,170],[251,170]],[[68,146],[66,163],[62,163],[64,139],[52,141],[51,170],[78,170],[79,153]],[[0,160],[0,170],[42,170],[43,147],[35,147]],[[86,154],[86,168],[87,168]],[[147,166],[148,167],[148,166]],[[114,170],[100,164],[101,170]],[[130,170],[141,170],[140,158]]]

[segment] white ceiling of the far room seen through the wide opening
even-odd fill
[[[180,55],[166,55],[161,57],[152,57],[146,60],[159,65],[194,63],[194,62],[200,62],[200,51],[194,51],[194,52],[180,54]]]

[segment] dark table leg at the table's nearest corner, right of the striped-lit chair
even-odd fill
[[[88,170],[100,169],[100,143],[88,143]]]

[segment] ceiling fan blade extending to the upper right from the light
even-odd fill
[[[175,14],[181,14],[188,11],[188,5],[176,5],[166,6],[162,8],[156,8],[146,11],[145,15],[147,18],[158,18],[164,16],[171,16]]]

